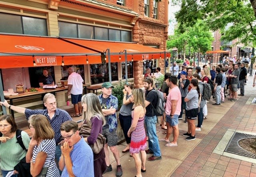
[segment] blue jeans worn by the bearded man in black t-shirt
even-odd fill
[[[147,126],[148,134],[148,148],[154,152],[154,156],[161,156],[160,146],[156,135],[156,119],[157,117],[145,116],[145,124]]]

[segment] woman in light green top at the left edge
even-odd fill
[[[16,131],[17,124],[12,115],[3,115],[0,117],[0,167],[2,175],[5,177],[9,171],[13,171],[21,159],[26,156],[26,151],[17,143]],[[26,149],[30,142],[26,132],[21,132],[22,142]],[[12,177],[18,176],[18,171],[14,170]]]

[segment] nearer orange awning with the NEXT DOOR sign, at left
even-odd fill
[[[61,65],[62,56],[65,65],[86,64],[86,58],[90,64],[101,63],[98,52],[57,37],[1,34],[0,39],[0,68],[33,67],[32,55],[38,66]]]

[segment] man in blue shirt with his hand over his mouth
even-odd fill
[[[92,148],[79,135],[78,124],[64,122],[60,132],[64,140],[59,161],[60,170],[63,170],[61,176],[94,177]]]

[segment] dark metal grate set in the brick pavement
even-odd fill
[[[256,138],[256,136],[235,132],[232,138],[230,139],[228,146],[224,151],[228,153],[234,153],[236,155],[242,155],[244,157],[251,157],[256,159],[256,154],[246,151],[245,149],[239,146],[238,142],[245,138]]]

